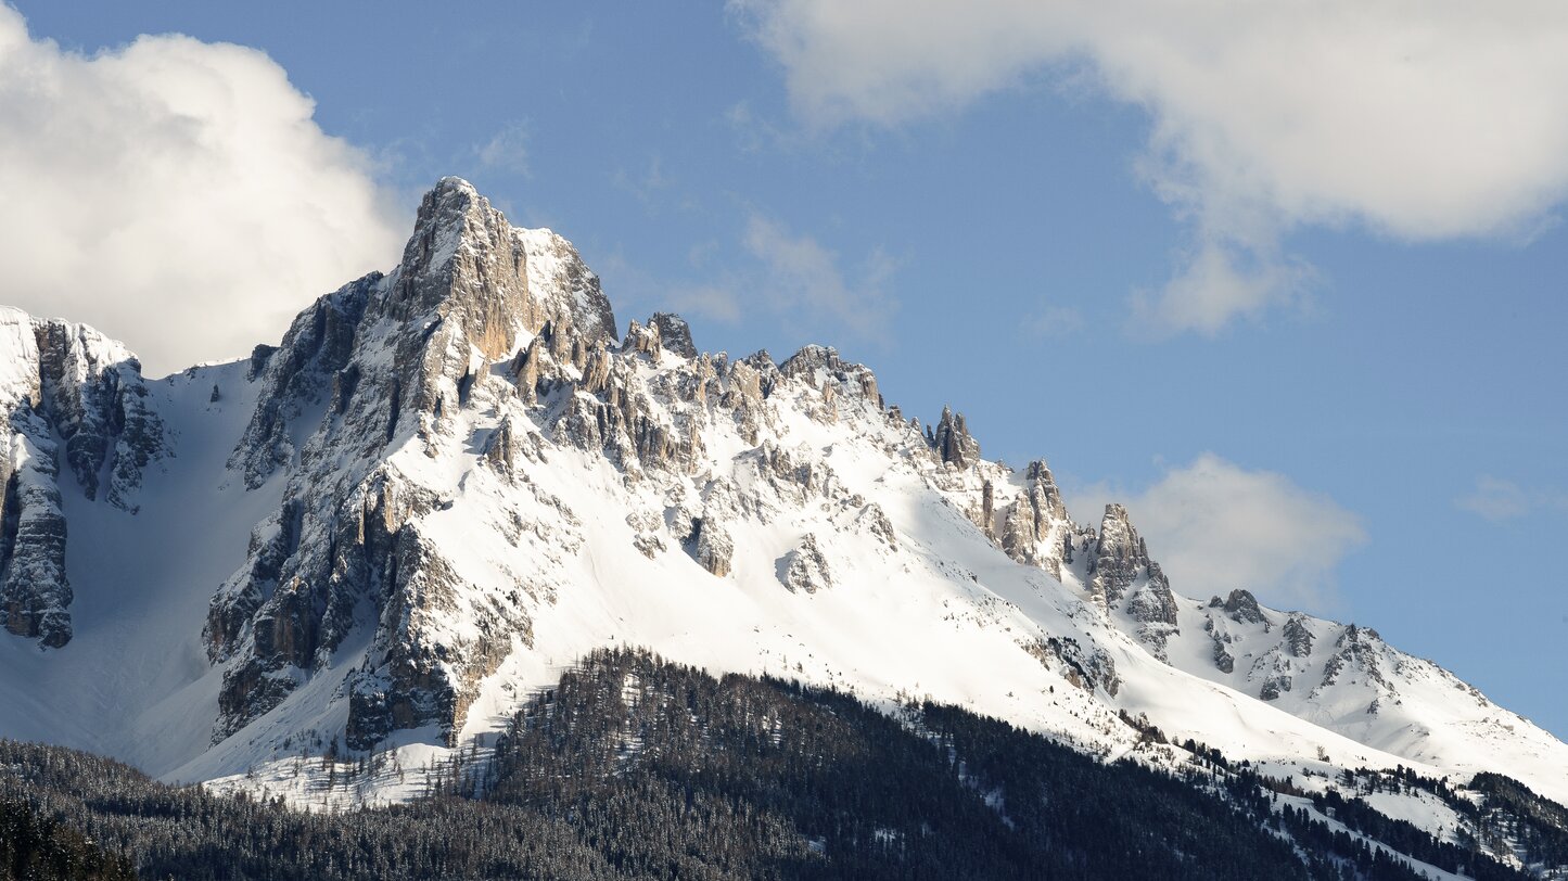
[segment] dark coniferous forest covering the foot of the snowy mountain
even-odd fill
[[[0,878],[1422,878],[1410,859],[1532,876],[1482,840],[1182,748],[1178,776],[955,707],[889,713],[602,651],[533,696],[492,756],[397,807],[306,814],[0,741]],[[1403,771],[1344,782],[1449,793]],[[1457,810],[1527,862],[1562,862],[1562,806],[1507,778],[1474,787],[1483,803],[1450,793]]]

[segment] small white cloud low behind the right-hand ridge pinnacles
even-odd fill
[[[1083,519],[1105,502],[1126,505],[1171,588],[1200,599],[1245,588],[1270,605],[1325,611],[1334,569],[1366,541],[1356,516],[1327,495],[1214,453],[1142,492],[1091,486],[1068,495]]]

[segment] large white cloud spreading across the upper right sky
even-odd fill
[[[812,125],[898,124],[1033,80],[1152,119],[1142,171],[1192,224],[1142,320],[1214,332],[1301,293],[1281,237],[1521,237],[1568,194],[1557,0],[732,0]],[[1088,74],[1087,77],[1083,74]]]

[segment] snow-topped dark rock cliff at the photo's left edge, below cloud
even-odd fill
[[[0,625],[60,647],[72,633],[60,459],[83,495],[135,514],[165,433],[141,364],[97,331],[0,309]]]

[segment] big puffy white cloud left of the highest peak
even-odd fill
[[[149,373],[276,342],[397,262],[370,161],[262,52],[143,36],[85,56],[0,5],[3,299],[86,321]]]

